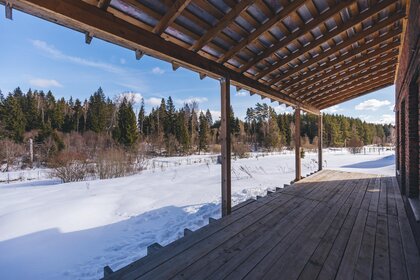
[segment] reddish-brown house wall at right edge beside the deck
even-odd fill
[[[420,0],[409,2],[395,87],[396,165],[401,193],[420,249],[420,223],[416,221],[412,207],[413,201],[419,202],[420,187]]]

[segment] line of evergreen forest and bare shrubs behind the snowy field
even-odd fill
[[[16,145],[32,138],[42,150],[43,160],[61,151],[118,147],[146,147],[149,154],[184,155],[219,152],[220,120],[197,103],[176,108],[171,97],[145,111],[133,109],[129,95],[111,99],[99,88],[85,100],[56,98],[51,91],[20,88],[3,95],[0,91],[0,141]],[[232,149],[238,154],[255,150],[280,150],[294,146],[294,115],[278,114],[267,104],[248,108],[244,120],[231,108]],[[372,124],[343,115],[323,115],[326,147],[391,143],[392,125]],[[302,146],[317,146],[317,116],[301,116]]]

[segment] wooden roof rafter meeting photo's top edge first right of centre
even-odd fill
[[[196,41],[190,48],[190,50],[198,51],[210,42],[219,32],[225,29],[232,21],[239,16],[245,9],[250,5],[254,4],[255,0],[242,0],[236,6],[234,6],[226,15],[224,15],[217,24],[207,30],[206,33]]]

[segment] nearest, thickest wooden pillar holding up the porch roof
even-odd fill
[[[222,144],[222,217],[229,215],[232,208],[231,198],[231,156],[230,156],[230,80],[224,78],[221,86],[221,124],[220,140]]]

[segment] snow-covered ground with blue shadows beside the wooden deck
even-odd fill
[[[393,176],[394,152],[324,152],[324,166]],[[303,174],[317,169],[306,154]],[[220,165],[211,155],[157,158],[140,174],[61,184],[45,170],[0,183],[0,279],[97,279],[220,217]],[[13,174],[1,174],[0,179]],[[253,154],[232,162],[237,204],[294,178],[294,154]],[[1,180],[0,180],[1,181]]]

